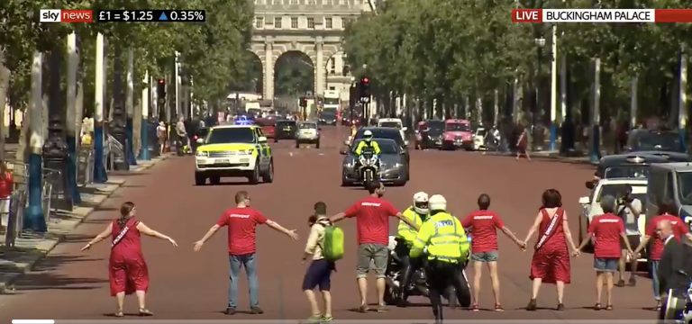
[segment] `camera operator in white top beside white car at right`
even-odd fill
[[[639,231],[639,216],[642,214],[642,201],[634,198],[632,195],[632,185],[625,184],[623,195],[615,202],[615,215],[619,216],[624,222],[624,231],[627,234],[626,240],[629,247],[638,247],[639,240],[642,238],[642,233]],[[637,284],[636,272],[638,266],[638,258],[631,257],[632,249],[625,248],[624,240],[621,242],[621,254],[618,264],[620,280],[617,281],[618,287],[624,287],[624,272],[627,258],[630,258],[630,279],[628,284],[634,286]]]

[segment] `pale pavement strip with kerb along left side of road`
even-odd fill
[[[131,166],[129,173],[148,170],[166,158],[168,156],[146,161],[137,160],[137,166]],[[5,247],[5,235],[0,236],[0,293],[13,291],[13,283],[17,279],[32,271],[36,264],[41,262],[92,212],[99,210],[100,205],[126,182],[122,173],[110,173],[105,184],[87,184],[79,188],[82,203],[72,211],[52,211],[48,224],[49,230],[45,236],[16,238],[14,247]]]

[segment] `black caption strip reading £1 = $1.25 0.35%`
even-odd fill
[[[96,18],[99,23],[204,23],[206,12],[205,10],[101,10]]]

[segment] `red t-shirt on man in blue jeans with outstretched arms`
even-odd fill
[[[216,221],[216,225],[228,226],[228,254],[241,256],[257,251],[255,244],[257,225],[266,222],[267,218],[261,212],[244,207],[223,211],[223,216]]]

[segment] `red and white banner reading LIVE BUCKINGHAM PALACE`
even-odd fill
[[[513,9],[514,23],[692,23],[692,9]]]

